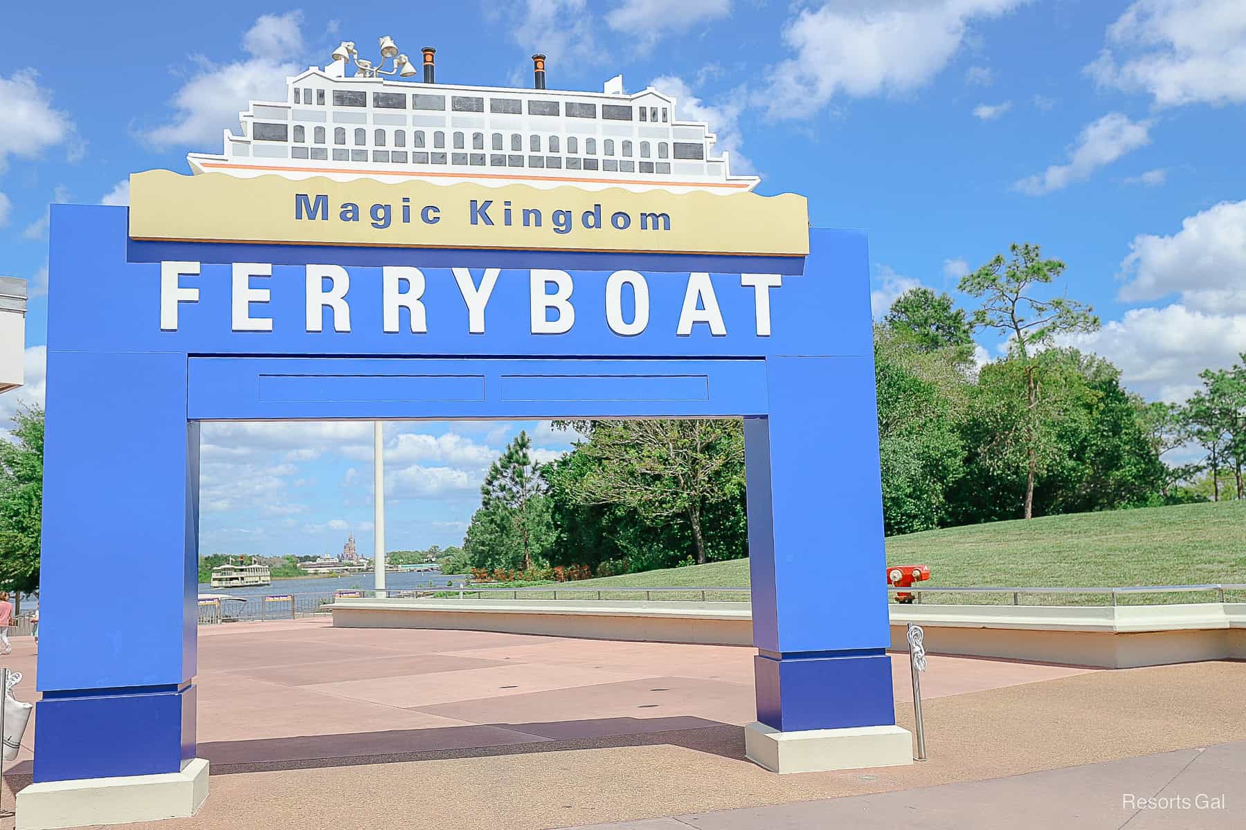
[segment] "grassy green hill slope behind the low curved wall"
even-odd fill
[[[834,549],[834,540],[827,539]],[[1129,586],[1246,584],[1246,501],[1184,504],[1109,513],[1044,516],[944,528],[887,539],[887,564],[930,565],[923,586]],[[885,575],[880,571],[878,580]],[[608,586],[746,586],[749,561],[739,559],[576,582]],[[607,594],[608,599],[638,599]],[[962,601],[966,595],[926,601]],[[675,597],[669,599],[690,599]],[[699,599],[699,595],[698,595]],[[721,595],[709,599],[745,599]],[[1199,601],[1202,595],[1144,595],[1133,601]],[[1246,592],[1234,599],[1246,599]],[[1028,595],[1027,604],[1101,602]],[[976,597],[973,601],[1007,601]]]

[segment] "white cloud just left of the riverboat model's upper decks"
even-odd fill
[[[157,148],[213,149],[222,131],[238,123],[238,111],[248,101],[284,101],[285,77],[300,68],[293,58],[304,50],[302,24],[300,11],[263,15],[243,35],[249,57],[233,63],[199,58],[201,71],[173,96],[173,119],[146,131],[142,139]]]

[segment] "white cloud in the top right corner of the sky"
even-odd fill
[[[1108,42],[1087,66],[1101,86],[1146,92],[1161,107],[1246,102],[1241,0],[1139,0],[1108,27]]]

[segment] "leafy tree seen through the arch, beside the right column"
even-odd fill
[[[588,441],[576,500],[622,505],[688,523],[698,564],[708,561],[704,514],[744,490],[744,429],[736,419],[576,422]]]

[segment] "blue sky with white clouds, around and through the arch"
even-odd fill
[[[0,273],[30,280],[27,387],[41,399],[50,202],[125,203],[133,170],[188,172],[249,98],[390,34],[437,49],[437,77],[679,97],[761,193],[810,199],[815,225],[870,233],[877,310],[954,290],[1011,241],[1068,263],[1054,290],[1094,305],[1078,345],[1130,388],[1184,398],[1246,351],[1246,4],[1241,0],[218,1],[4,10]],[[959,297],[964,301],[964,297]],[[982,356],[998,343],[982,341]],[[390,424],[389,548],[461,539],[488,460],[518,428]],[[371,549],[364,424],[204,428],[204,553]]]

